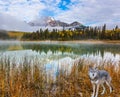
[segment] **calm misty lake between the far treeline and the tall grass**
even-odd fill
[[[37,59],[39,64],[45,64],[50,70],[58,65],[69,64],[71,67],[77,58],[86,58],[96,64],[101,60],[117,64],[120,62],[120,44],[0,41],[0,58],[6,57],[17,64],[22,63],[25,57],[31,62]]]

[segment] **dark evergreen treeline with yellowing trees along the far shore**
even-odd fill
[[[106,24],[102,27],[86,27],[83,29],[62,31],[53,29],[52,31],[38,30],[32,33],[25,33],[23,40],[82,40],[82,39],[109,39],[120,40],[120,29],[116,26],[113,30],[106,30]]]

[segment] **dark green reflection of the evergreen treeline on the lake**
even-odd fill
[[[120,54],[120,45],[113,44],[69,44],[69,45],[57,45],[57,44],[23,44],[24,49],[32,49],[36,52],[45,52],[48,51],[52,53],[61,52],[63,53],[73,53],[74,55],[83,55],[83,54],[94,54],[100,55],[103,57],[105,52],[110,52],[115,54]]]

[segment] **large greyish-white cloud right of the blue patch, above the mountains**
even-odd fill
[[[56,18],[66,22],[77,20],[86,25],[113,24],[120,17],[120,0],[71,0],[69,10],[57,15]],[[119,24],[120,20],[116,22]]]

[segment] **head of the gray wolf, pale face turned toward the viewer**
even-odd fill
[[[98,69],[94,67],[89,67],[88,75],[90,79],[94,80],[98,76]]]

